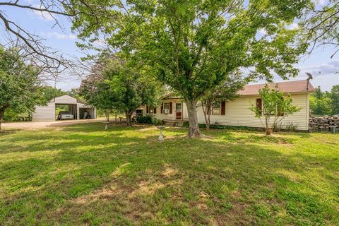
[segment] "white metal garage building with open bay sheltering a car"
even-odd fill
[[[95,107],[85,105],[70,95],[62,95],[53,98],[47,106],[36,106],[32,113],[32,121],[55,121],[57,120],[56,109],[61,106],[68,106],[68,112],[73,114],[74,119],[83,119],[88,115],[90,119],[96,119],[97,111]],[[86,113],[85,113],[86,112]]]

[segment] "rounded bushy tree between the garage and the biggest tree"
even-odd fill
[[[93,67],[93,73],[82,81],[80,94],[88,105],[105,111],[126,114],[131,125],[131,114],[141,105],[157,105],[160,85],[131,61],[118,56],[104,55]]]

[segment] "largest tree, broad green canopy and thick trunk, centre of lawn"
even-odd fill
[[[73,28],[84,40],[104,32],[112,47],[150,66],[187,105],[189,136],[199,136],[197,102],[241,68],[251,76],[295,76],[293,64],[306,45],[288,29],[308,0],[119,1],[114,20],[91,28],[86,16]],[[112,13],[112,11],[114,13]],[[82,22],[82,23],[81,23]]]

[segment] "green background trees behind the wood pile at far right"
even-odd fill
[[[310,100],[312,116],[339,114],[339,85],[334,85],[330,92],[316,88]]]

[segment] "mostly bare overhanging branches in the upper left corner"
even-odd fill
[[[86,17],[90,26],[100,28],[100,21],[112,19],[113,15],[106,10],[114,6],[111,0],[34,0],[34,1],[1,1],[0,31],[3,45],[20,42],[20,54],[30,57],[32,63],[40,67],[45,78],[57,79],[66,69],[77,69],[78,65],[69,57],[65,57],[57,49],[48,46],[41,34],[28,30],[23,21],[18,21],[16,15],[23,12],[33,12],[37,16],[47,18],[51,28],[59,27],[65,30],[63,19],[76,23],[78,18]],[[16,44],[17,45],[17,44]],[[72,70],[77,73],[77,70]],[[42,75],[40,75],[42,76]]]

